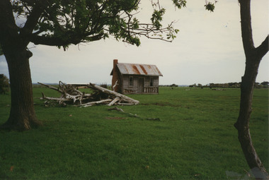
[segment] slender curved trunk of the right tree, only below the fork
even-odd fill
[[[251,61],[252,60],[252,61]],[[256,153],[249,131],[249,121],[251,119],[253,87],[258,74],[258,66],[261,59],[247,59],[245,74],[241,82],[241,102],[239,118],[234,126],[238,130],[238,138],[244,152],[246,162],[251,168],[256,179],[268,179],[268,173]]]

